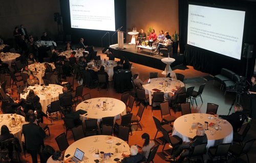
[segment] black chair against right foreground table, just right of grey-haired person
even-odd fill
[[[231,146],[231,143],[225,143],[225,144],[218,144],[217,146],[214,146],[214,147],[210,147],[208,149],[208,155],[210,156],[212,161],[214,158],[217,158],[217,159],[225,158],[225,160],[227,160],[228,150],[230,146]]]

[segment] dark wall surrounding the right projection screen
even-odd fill
[[[241,58],[241,60],[232,59],[219,55],[208,50],[186,45],[187,41],[187,14],[188,3],[199,3],[205,6],[225,7],[227,9],[237,8],[246,11],[243,44],[254,44],[253,57],[248,60]],[[179,29],[180,29],[180,52],[185,53],[186,64],[193,66],[195,69],[207,72],[210,74],[220,73],[221,68],[230,69],[239,75],[245,76],[246,65],[248,63],[247,77],[249,78],[254,71],[255,65],[255,37],[256,37],[256,3],[247,1],[222,1],[222,0],[179,0]],[[181,11],[182,10],[182,11]],[[221,28],[221,26],[220,26]],[[227,47],[228,48],[228,47]]]

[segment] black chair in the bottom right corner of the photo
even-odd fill
[[[231,156],[236,158],[236,161],[237,161],[238,157],[246,154],[247,160],[248,160],[248,162],[250,162],[248,152],[250,151],[251,146],[253,145],[255,140],[256,139],[251,139],[251,140],[245,142],[243,146],[240,144],[232,144],[231,147],[229,148],[229,152],[231,153]]]

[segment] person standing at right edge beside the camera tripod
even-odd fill
[[[252,85],[250,86],[248,92],[251,98],[251,117],[255,119],[256,118],[256,75],[253,75],[251,77],[251,83]]]

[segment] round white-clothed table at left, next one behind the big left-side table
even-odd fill
[[[39,84],[43,84],[42,77],[45,76],[45,66],[44,63],[34,63],[29,65],[29,69],[33,72],[34,76],[36,76],[39,80]],[[55,66],[53,63],[49,63],[52,66],[52,69],[55,69]],[[35,71],[36,68],[36,71]]]

